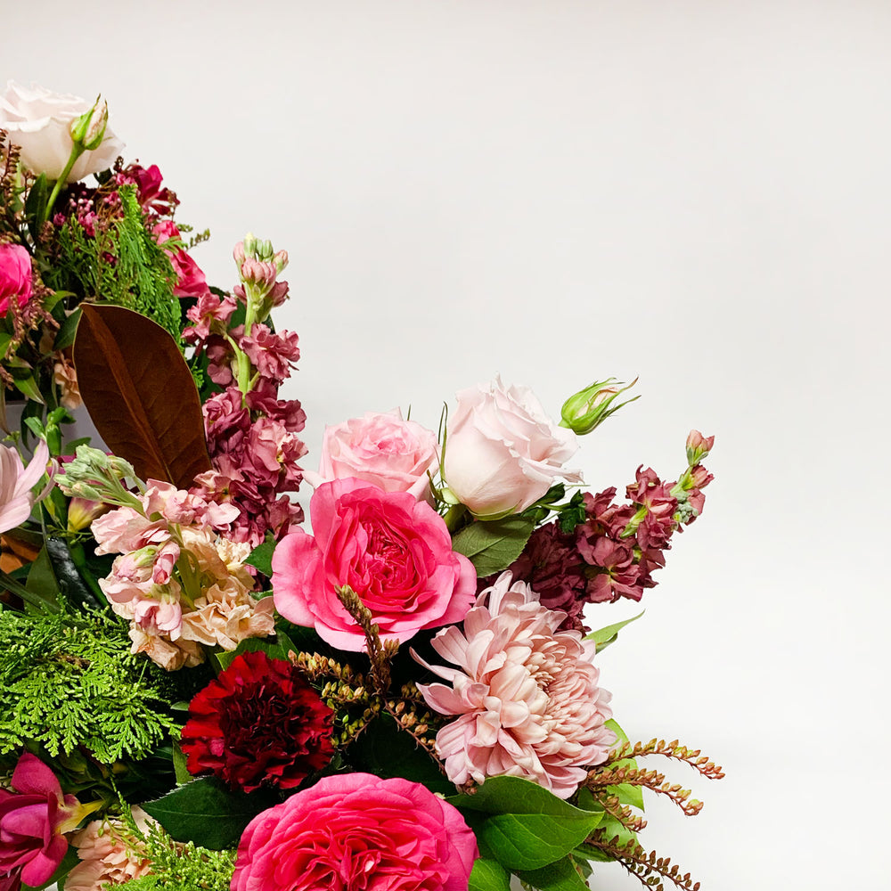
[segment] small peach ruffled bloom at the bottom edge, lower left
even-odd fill
[[[141,807],[131,813],[141,832],[149,829],[151,817]],[[145,845],[135,838],[126,823],[94,820],[70,838],[80,862],[65,879],[66,891],[95,891],[99,887],[123,885],[151,872]]]

